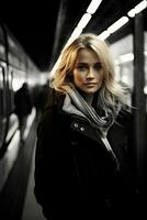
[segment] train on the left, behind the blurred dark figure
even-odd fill
[[[31,96],[39,84],[39,69],[10,30],[0,22],[0,191],[16,160],[20,147],[19,119],[15,113],[15,92],[27,82]],[[33,99],[32,99],[33,100]],[[35,118],[35,108],[27,117],[24,139]]]

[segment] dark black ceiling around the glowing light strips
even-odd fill
[[[91,0],[49,0],[20,3],[4,0],[0,16],[41,70],[49,69]],[[140,0],[103,0],[84,32],[101,33]],[[146,22],[145,22],[146,23]],[[132,32],[131,24],[110,42]]]

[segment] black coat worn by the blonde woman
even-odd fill
[[[50,98],[37,128],[34,193],[44,215],[84,220],[127,210],[135,184],[132,114],[121,112],[108,134],[117,170],[95,129],[61,110],[64,99]]]

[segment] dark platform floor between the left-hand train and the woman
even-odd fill
[[[20,143],[13,167],[0,191],[1,220],[46,220],[34,197],[34,155],[37,121],[36,117],[30,127],[30,131],[27,131],[25,142]]]

